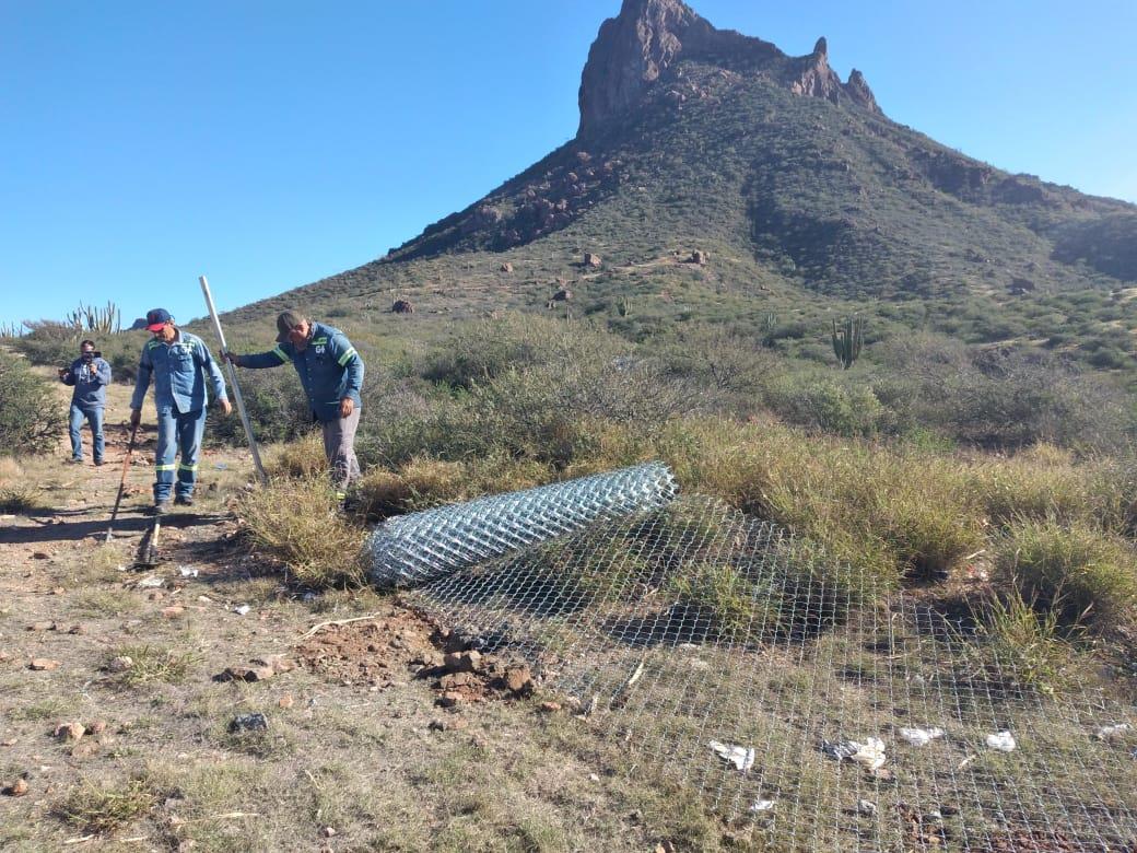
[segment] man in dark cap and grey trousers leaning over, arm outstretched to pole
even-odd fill
[[[292,312],[276,317],[277,346],[267,353],[234,355],[238,367],[279,367],[292,362],[308,405],[324,432],[324,455],[332,466],[335,496],[342,500],[348,485],[359,477],[355,433],[363,406],[363,358],[339,329],[309,321]]]

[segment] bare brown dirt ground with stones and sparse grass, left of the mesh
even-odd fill
[[[152,424],[105,541],[128,391],[106,465],[19,459],[43,507],[0,517],[0,848],[745,846],[514,662],[370,590],[284,585],[230,511],[247,454],[205,453],[198,504],[135,566]]]

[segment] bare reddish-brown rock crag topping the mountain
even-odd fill
[[[578,135],[589,134],[638,103],[680,56],[707,59],[731,71],[763,72],[797,94],[833,102],[847,96],[860,107],[880,111],[860,72],[843,84],[829,67],[824,38],[812,53],[795,59],[770,42],[716,30],[682,0],[623,0],[620,14],[600,25],[588,52]]]

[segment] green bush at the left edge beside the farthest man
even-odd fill
[[[64,430],[64,412],[47,381],[22,359],[0,361],[0,455],[53,449]]]

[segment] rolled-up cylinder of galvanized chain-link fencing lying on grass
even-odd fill
[[[598,519],[663,506],[675,491],[671,471],[655,462],[399,515],[364,546],[371,580],[382,587],[422,583]]]

